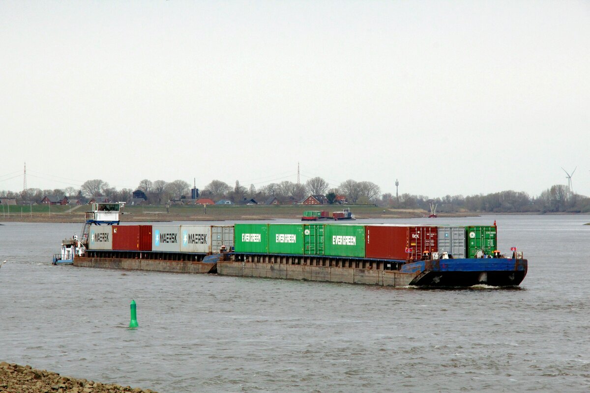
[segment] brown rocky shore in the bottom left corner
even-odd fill
[[[150,389],[101,384],[63,377],[56,372],[34,369],[31,366],[0,363],[0,392],[9,393],[156,393]]]

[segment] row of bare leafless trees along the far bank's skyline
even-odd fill
[[[169,200],[185,199],[191,189],[189,183],[184,180],[167,182],[164,180],[151,181],[143,179],[137,186],[148,197],[149,203],[161,204]],[[590,199],[569,191],[568,187],[556,184],[543,191],[538,197],[530,197],[522,191],[501,191],[487,195],[472,196],[444,196],[430,199],[427,196],[401,194],[399,197],[391,193],[380,194],[379,186],[371,181],[355,181],[352,179],[343,181],[339,187],[329,188],[329,183],[321,177],[309,179],[305,184],[297,184],[291,181],[270,183],[256,189],[254,184],[244,187],[240,181],[235,181],[235,186],[221,180],[212,180],[201,190],[200,197],[213,200],[229,199],[234,203],[254,199],[258,203],[264,202],[269,197],[276,197],[280,202],[290,200],[300,201],[311,195],[324,195],[329,203],[336,201],[336,196],[346,197],[351,204],[375,204],[377,206],[393,209],[430,209],[430,203],[437,204],[438,212],[590,212]],[[28,189],[15,193],[12,191],[0,191],[0,197],[16,198],[19,202],[40,202],[45,196],[68,196],[70,199],[105,196],[112,201],[130,202],[133,190],[111,187],[109,183],[100,179],[85,181],[80,189],[67,187],[65,189],[41,190]]]

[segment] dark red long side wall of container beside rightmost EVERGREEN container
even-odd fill
[[[368,225],[366,231],[366,257],[405,260],[409,227]]]

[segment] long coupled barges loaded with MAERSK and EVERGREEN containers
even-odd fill
[[[519,285],[527,260],[497,227],[369,224],[91,225],[74,266],[386,286]]]

